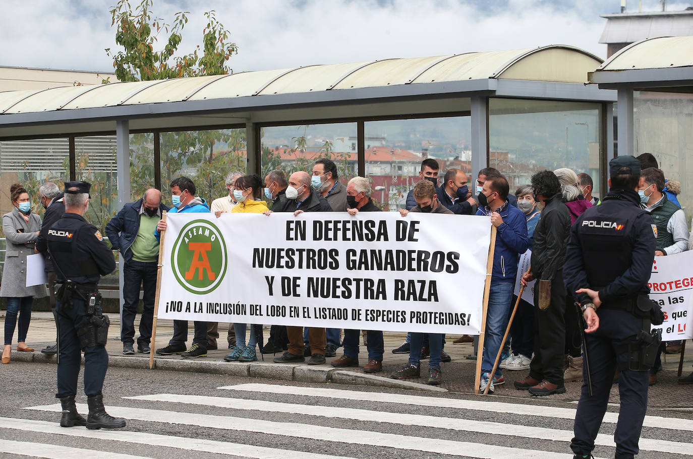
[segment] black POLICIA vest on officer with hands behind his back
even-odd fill
[[[634,206],[613,212],[608,201],[588,209],[577,233],[582,246],[587,280],[591,289],[611,284],[632,264],[633,225],[644,210]]]

